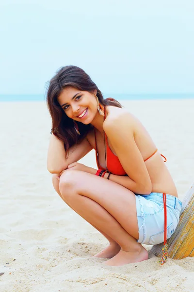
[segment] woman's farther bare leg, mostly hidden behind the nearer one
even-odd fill
[[[53,174],[52,176],[52,183],[54,186],[55,191],[59,194],[59,196],[62,198],[62,195],[60,193],[59,190],[59,179],[57,178],[58,174]],[[63,199],[63,198],[62,198]],[[63,199],[65,201],[65,199]],[[69,206],[68,202],[65,201],[65,203]],[[70,206],[69,206],[70,207]],[[72,208],[72,207],[70,207]],[[73,208],[72,208],[73,209]],[[74,209],[73,209],[74,210]],[[74,210],[76,212],[76,210]],[[77,213],[77,212],[76,212]],[[79,214],[80,215],[80,214]],[[87,220],[86,220],[87,221]],[[115,256],[116,254],[118,254],[118,252],[120,251],[121,247],[118,243],[116,243],[116,241],[113,240],[113,238],[109,237],[106,233],[104,233],[102,230],[98,229],[96,226],[94,226],[91,222],[88,221],[88,223],[90,223],[93,227],[95,227],[97,229],[97,231],[99,231],[104,237],[107,238],[107,240],[109,241],[109,245],[101,252],[99,252],[97,255],[95,255],[94,257],[102,257],[102,258],[112,258],[113,256]]]

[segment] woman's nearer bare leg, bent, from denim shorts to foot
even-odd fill
[[[136,203],[131,191],[71,169],[62,174],[59,190],[72,209],[120,245],[120,252],[107,265],[121,266],[148,258],[146,249],[136,240],[139,237]]]

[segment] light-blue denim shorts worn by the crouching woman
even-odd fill
[[[135,195],[139,239],[144,244],[159,244],[164,241],[164,207],[163,194]],[[182,202],[166,194],[167,239],[174,233],[180,216]]]

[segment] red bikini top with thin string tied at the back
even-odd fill
[[[106,119],[106,108],[104,107],[104,120],[105,119]],[[95,146],[96,146],[95,150],[96,150],[97,167],[98,167],[98,169],[106,170],[104,167],[100,166],[100,164],[98,163],[96,128],[94,128],[94,134],[95,134]],[[108,145],[107,135],[105,132],[104,132],[104,135],[105,135],[105,141],[106,141],[107,170],[115,175],[126,175],[127,173],[123,169],[123,166],[121,165],[118,157],[112,152],[112,150],[110,149],[110,147]],[[157,151],[158,151],[158,149],[156,149],[154,151],[154,153],[152,153],[152,155],[150,155],[148,158],[146,158],[145,161],[148,160],[149,158],[151,158]],[[161,156],[165,159],[164,162],[166,162],[166,158],[162,154],[161,154]]]

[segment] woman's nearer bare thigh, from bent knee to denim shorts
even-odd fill
[[[124,186],[79,170],[68,169],[60,178],[62,196],[68,185],[79,195],[96,201],[134,238],[139,238],[135,194]],[[63,191],[64,190],[64,191]],[[67,196],[67,197],[66,197]],[[72,192],[65,199],[74,200]]]

